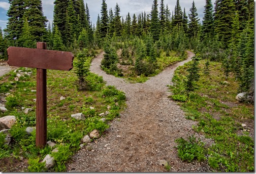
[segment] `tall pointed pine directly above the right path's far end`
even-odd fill
[[[197,34],[199,32],[199,18],[198,18],[197,8],[195,6],[194,1],[189,11],[190,11],[190,14],[188,14],[188,17],[189,17],[188,35],[189,37],[197,37]]]

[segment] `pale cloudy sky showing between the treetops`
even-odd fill
[[[201,19],[200,22],[202,22],[203,18],[203,11],[205,6],[205,0],[194,0],[195,5],[197,7],[197,12],[199,15],[199,18]],[[54,0],[42,0],[43,3],[43,12],[44,15],[47,17],[47,19],[51,22],[53,20],[53,4]],[[158,7],[160,4],[160,0],[158,0]],[[214,3],[215,0],[212,0],[212,3]],[[84,4],[88,5],[89,12],[90,12],[90,18],[92,23],[96,23],[98,14],[101,16],[101,4],[102,0],[84,0]],[[108,10],[112,8],[114,12],[114,7],[118,4],[120,7],[120,16],[123,16],[125,19],[125,16],[130,12],[131,17],[135,13],[136,16],[141,12],[146,12],[146,14],[149,14],[151,11],[153,0],[106,0],[106,4],[108,6]],[[168,4],[168,7],[172,13],[174,11],[176,0],[165,0],[165,4]],[[180,6],[182,8],[185,8],[186,15],[189,14],[189,9],[192,7],[193,0],[180,0]],[[6,16],[7,10],[9,9],[8,0],[0,0],[0,27],[2,29],[6,28],[6,23],[8,17]]]

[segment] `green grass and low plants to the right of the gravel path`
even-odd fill
[[[205,61],[200,61],[203,69]],[[197,82],[198,89],[194,92],[184,90],[189,63],[178,67],[173,77],[173,86],[170,96],[186,112],[186,118],[198,121],[193,129],[199,134],[214,140],[214,143],[205,148],[204,156],[213,171],[248,172],[254,171],[254,141],[244,132],[241,123],[252,122],[254,119],[254,105],[238,103],[238,82],[233,74],[228,79],[222,73],[221,64],[210,62],[210,74],[200,73],[201,78]],[[223,83],[228,81],[229,84]],[[182,141],[181,141],[182,140]],[[187,161],[193,160],[195,154],[190,149],[196,149],[195,143],[188,144],[183,138],[177,140],[179,156]],[[190,148],[191,146],[191,148]],[[185,149],[185,150],[184,150]],[[186,151],[187,154],[185,153]],[[180,155],[181,154],[181,155]],[[186,155],[184,155],[186,154]],[[194,156],[193,156],[194,155]]]

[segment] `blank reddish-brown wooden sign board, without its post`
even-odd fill
[[[7,53],[10,66],[64,71],[73,68],[74,55],[71,52],[9,47]]]

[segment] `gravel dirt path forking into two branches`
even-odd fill
[[[90,143],[92,151],[83,148],[73,156],[67,171],[166,171],[159,165],[160,160],[168,161],[173,172],[210,171],[205,163],[182,162],[174,147],[175,139],[195,134],[191,126],[196,122],[185,119],[179,106],[167,98],[170,95],[167,84],[171,83],[174,70],[194,56],[187,53],[187,60],[168,67],[145,83],[128,83],[106,74],[100,69],[103,53],[96,57],[90,70],[125,93],[127,108],[120,119],[110,123],[105,137]]]

